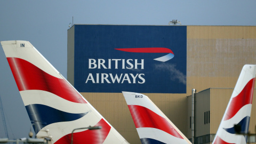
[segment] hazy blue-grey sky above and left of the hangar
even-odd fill
[[[26,40],[67,77],[67,29],[74,24],[256,26],[256,1],[0,1],[0,41]],[[28,137],[30,121],[0,46],[0,97],[9,138]],[[1,113],[1,111],[0,111]],[[0,138],[6,137],[0,115]]]

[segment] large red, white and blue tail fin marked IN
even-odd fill
[[[37,138],[51,143],[128,143],[27,41],[1,42]]]

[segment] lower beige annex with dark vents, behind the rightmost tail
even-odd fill
[[[215,137],[215,133],[218,130],[219,124],[226,110],[230,96],[233,93],[234,88],[209,88],[201,92],[195,93],[195,119],[194,119],[194,137],[195,143],[210,143]],[[254,89],[255,91],[256,89]],[[256,98],[256,93],[253,93],[253,99]],[[187,137],[191,138],[191,95],[187,98],[188,103],[188,127]],[[255,100],[253,100],[255,103]],[[255,132],[255,104],[252,105],[251,118],[250,118],[250,133]],[[251,143],[255,143],[255,136],[248,138]]]

